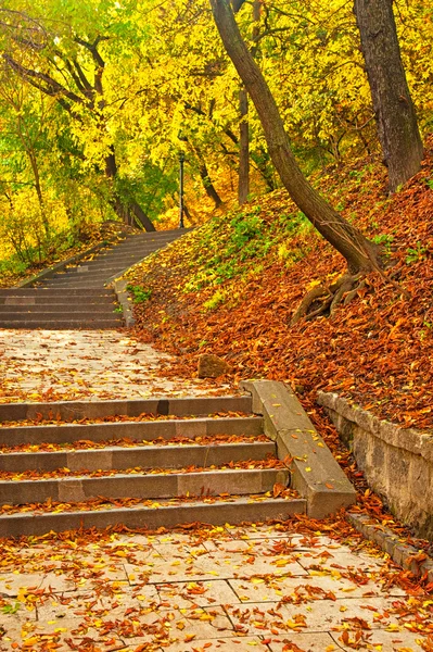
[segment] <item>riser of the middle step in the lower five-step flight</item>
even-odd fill
[[[275,455],[272,442],[231,443],[218,446],[104,448],[104,450],[61,451],[52,453],[8,453],[0,455],[0,471],[123,471],[126,468],[187,468],[188,466],[222,466],[242,460],[265,460]]]

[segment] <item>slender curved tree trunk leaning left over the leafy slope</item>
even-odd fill
[[[351,273],[370,271],[378,265],[377,246],[334,211],[301,172],[276,101],[242,39],[229,0],[211,0],[211,5],[225,48],[254,102],[270,158],[289,195],[323,238],[345,258]]]

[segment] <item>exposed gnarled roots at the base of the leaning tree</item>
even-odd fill
[[[344,303],[347,305],[366,286],[364,274],[344,274],[330,286],[316,286],[310,290],[295,310],[291,326],[300,319],[314,319],[320,315],[332,316],[336,308]]]

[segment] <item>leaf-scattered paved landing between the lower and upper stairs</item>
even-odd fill
[[[0,400],[37,401],[51,390],[66,400],[209,393],[198,378],[163,378],[169,359],[122,330],[1,329]]]

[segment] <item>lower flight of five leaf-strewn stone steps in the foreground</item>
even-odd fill
[[[306,512],[251,397],[0,404],[0,537]]]

